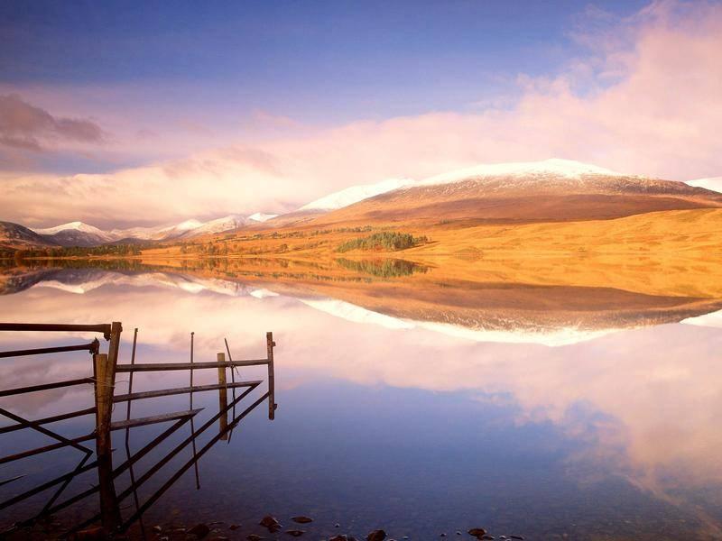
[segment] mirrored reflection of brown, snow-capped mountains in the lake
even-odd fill
[[[125,268],[108,270],[110,263],[100,261],[95,268],[8,269],[0,290],[13,294],[34,287],[81,294],[113,284],[191,293],[212,291],[236,297],[282,294],[357,323],[403,329],[420,326],[479,342],[551,346],[643,326],[680,321],[706,325],[704,322],[712,320],[708,315],[722,308],[722,298],[652,295],[593,284],[542,285],[490,281],[486,277],[440,280],[434,278],[436,270],[430,266],[403,260],[337,259],[327,265],[245,260],[235,271],[218,271],[228,268],[218,261],[205,261],[210,271],[190,271],[190,261],[181,261],[180,269],[166,267],[160,271],[138,261],[125,261]],[[366,275],[375,280],[364,279]],[[408,280],[394,280],[402,278]]]

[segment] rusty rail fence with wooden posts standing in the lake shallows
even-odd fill
[[[69,532],[77,531],[83,527],[99,523],[108,531],[125,531],[130,527],[136,520],[141,520],[143,513],[150,508],[155,501],[157,501],[162,494],[167,491],[175,481],[180,479],[180,476],[187,472],[191,467],[195,468],[196,484],[199,487],[199,474],[198,474],[198,461],[201,456],[208,452],[208,449],[215,445],[221,439],[229,439],[233,434],[233,429],[240,423],[240,421],[246,417],[251,411],[257,408],[260,404],[267,400],[268,402],[268,418],[273,419],[275,417],[275,410],[277,408],[275,402],[275,384],[274,384],[274,366],[273,366],[273,348],[275,342],[273,342],[273,334],[266,334],[266,357],[264,359],[253,359],[253,360],[242,360],[234,361],[226,341],[226,350],[228,359],[226,359],[226,353],[218,353],[215,362],[195,362],[194,351],[193,351],[193,334],[191,333],[190,339],[190,362],[151,362],[151,363],[136,363],[135,352],[137,344],[138,329],[134,330],[133,336],[133,348],[131,353],[131,359],[128,363],[118,362],[118,353],[120,348],[120,339],[123,332],[123,326],[120,322],[113,322],[109,324],[98,324],[98,325],[64,325],[64,324],[23,324],[23,323],[0,323],[0,332],[10,333],[23,333],[23,332],[40,332],[40,333],[52,333],[52,332],[64,332],[64,333],[94,333],[102,335],[104,340],[107,342],[106,352],[101,352],[100,341],[98,338],[94,338],[90,342],[82,344],[70,344],[70,345],[58,345],[51,347],[32,348],[23,350],[13,350],[0,352],[0,359],[10,357],[22,357],[29,355],[44,355],[51,353],[69,353],[69,352],[88,352],[90,355],[89,361],[92,362],[93,376],[85,378],[76,378],[64,381],[53,381],[49,383],[39,383],[37,385],[31,385],[26,387],[19,387],[15,389],[0,389],[0,399],[7,397],[17,397],[28,393],[42,392],[45,390],[54,390],[60,388],[69,388],[80,385],[92,384],[94,391],[94,406],[92,408],[83,408],[76,411],[70,411],[67,413],[57,414],[51,417],[43,417],[39,419],[27,419],[24,418],[6,408],[0,408],[0,416],[7,417],[13,421],[14,424],[0,427],[0,438],[4,435],[14,433],[18,430],[30,429],[41,433],[44,436],[51,437],[55,440],[55,443],[51,445],[43,445],[41,447],[35,447],[32,449],[24,450],[22,452],[8,454],[0,457],[0,464],[14,463],[23,458],[27,458],[34,455],[49,453],[51,451],[63,448],[71,447],[76,449],[81,454],[78,465],[70,472],[66,472],[50,481],[44,481],[41,484],[33,487],[28,491],[23,491],[20,494],[14,495],[12,498],[0,501],[0,510],[10,508],[20,501],[26,500],[40,494],[44,491],[50,491],[57,487],[52,492],[50,499],[42,507],[42,509],[31,518],[15,523],[13,528],[26,527],[32,525],[36,520],[43,517],[49,517],[51,514],[58,512],[61,509],[66,509],[74,503],[84,500],[92,494],[98,494],[99,512],[83,521],[82,523],[72,527]],[[262,396],[255,399],[250,405],[245,407],[240,413],[236,415],[236,407],[242,406],[242,401],[255,389],[259,388],[262,384],[262,380],[254,381],[236,381],[236,371],[239,367],[249,366],[260,366],[266,365],[268,370],[268,381],[267,390]],[[206,369],[217,369],[218,370],[218,384],[210,385],[194,385],[194,371],[206,370]],[[227,369],[231,370],[231,382],[227,382],[226,374]],[[144,390],[141,392],[133,391],[134,374],[137,372],[151,372],[151,371],[189,371],[190,382],[188,386],[176,387],[170,389],[158,389],[158,390]],[[0,373],[2,372],[2,365],[0,365]],[[128,373],[128,391],[125,394],[116,394],[116,374]],[[196,429],[194,424],[195,417],[199,414],[202,408],[193,408],[193,395],[197,392],[204,391],[218,391],[218,414],[209,418],[202,426]],[[228,400],[228,391],[232,393],[232,399]],[[236,390],[242,390],[238,396],[236,396]],[[131,406],[136,400],[144,399],[155,399],[160,397],[172,396],[172,395],[184,395],[189,396],[189,408],[166,412],[151,417],[136,417],[131,418]],[[125,419],[120,421],[113,421],[113,407],[115,404],[125,402]],[[66,437],[62,436],[57,430],[51,430],[48,425],[59,423],[60,421],[72,419],[75,417],[82,416],[95,416],[95,429],[92,433],[85,436]],[[230,419],[228,418],[230,415]],[[172,425],[165,429],[162,434],[153,438],[151,442],[144,445],[142,448],[137,450],[134,454],[131,454],[129,445],[130,430],[138,426],[148,426],[161,423],[172,422]],[[172,447],[171,451],[164,454],[153,466],[149,467],[140,476],[135,475],[134,464],[137,463],[141,458],[151,453],[153,449],[157,448],[163,441],[177,432],[181,426],[186,425],[190,422],[190,436],[184,438],[180,444]],[[198,437],[208,431],[211,426],[214,426],[218,422],[218,433],[215,434],[210,440],[203,445],[200,449],[196,447],[196,440]],[[112,447],[112,433],[118,430],[125,430],[125,454],[126,459],[120,465],[114,467],[113,464],[113,447]],[[0,441],[2,441],[0,439]],[[95,442],[95,453],[93,449],[84,445],[87,442]],[[153,492],[143,502],[140,501],[137,493],[137,489],[143,485],[146,481],[152,479],[157,472],[159,472],[164,465],[169,463],[174,457],[180,452],[190,446],[191,457],[183,463],[180,468],[171,474],[167,481],[162,483],[162,486]],[[95,454],[95,460],[90,461],[91,457]],[[66,500],[60,500],[60,497],[68,489],[69,484],[73,479],[78,477],[81,473],[89,472],[97,469],[97,485],[89,488],[86,491],[81,491],[79,494],[75,494]],[[116,479],[121,474],[128,472],[130,476],[130,483],[123,491],[116,491]],[[24,475],[15,475],[9,479],[0,479],[0,486],[5,484],[13,483],[22,479]],[[120,502],[125,498],[133,495],[134,497],[134,512],[127,518],[121,516]],[[60,501],[59,501],[60,500]],[[3,532],[0,531],[0,535]]]

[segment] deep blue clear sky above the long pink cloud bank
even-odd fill
[[[642,2],[597,7],[624,17]],[[2,82],[171,89],[301,121],[474,107],[554,73],[587,2],[5,2]],[[172,88],[183,92],[173,93]],[[192,90],[190,90],[192,88]]]

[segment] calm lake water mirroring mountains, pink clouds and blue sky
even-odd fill
[[[129,360],[134,327],[137,362],[187,361],[191,331],[198,361],[215,360],[224,337],[235,358],[259,358],[265,331],[273,331],[276,419],[267,419],[264,405],[255,409],[230,442],[219,442],[200,461],[201,489],[187,472],[146,513],[146,526],[222,521],[242,524],[235,531],[218,526],[240,539],[263,534],[255,524],[266,514],[284,526],[305,514],[314,518],[303,527],[312,539],[360,538],[375,527],[395,539],[453,537],[469,527],[485,527],[497,538],[722,538],[722,326],[714,303],[692,299],[680,306],[616,292],[624,300],[616,309],[607,306],[612,293],[597,292],[586,297],[588,306],[578,306],[579,291],[532,294],[507,285],[494,295],[484,289],[481,306],[474,296],[482,293],[454,284],[441,284],[448,294],[437,292],[435,300],[426,293],[410,300],[394,280],[412,279],[377,275],[381,281],[363,295],[345,289],[335,298],[332,289],[320,294],[278,275],[20,274],[5,280],[0,319],[122,321],[121,362]],[[431,280],[433,271],[421,275]],[[450,310],[449,298],[463,290],[473,302]],[[706,313],[712,316],[700,317]],[[63,342],[58,335],[0,339],[2,349],[31,339]],[[212,382],[209,372],[199,372],[196,382]],[[263,369],[241,372],[244,379],[264,378]],[[1,373],[2,388],[10,388],[82,377],[91,366],[87,355],[63,353],[6,359]],[[188,384],[186,373],[135,378],[134,390]],[[119,390],[125,380],[118,376]],[[88,408],[91,399],[84,388],[53,390],[0,399],[0,406],[38,418]],[[218,411],[218,395],[197,394],[195,404],[206,407],[202,422]],[[187,397],[141,401],[133,414],[187,406]],[[114,418],[124,417],[125,405],[117,406]],[[87,433],[89,421],[66,422],[63,434]],[[137,429],[133,447],[163,427]],[[26,432],[0,435],[3,454],[48,443]],[[114,444],[122,460],[122,437]],[[189,457],[186,450],[174,463]],[[25,475],[0,486],[0,500],[77,461],[66,449],[0,465],[0,481]],[[74,482],[71,492],[93,480]],[[0,512],[0,526],[32,515],[43,501]],[[87,516],[92,503],[69,509],[60,521]],[[124,514],[132,511],[131,499],[124,505]]]

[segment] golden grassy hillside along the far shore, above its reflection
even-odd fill
[[[200,237],[143,251],[143,256],[281,255],[335,256],[338,246],[379,231],[427,236],[428,243],[403,251],[407,255],[495,257],[533,254],[700,254],[722,253],[722,209],[704,208],[582,222],[527,225],[463,226],[451,222],[431,227],[375,225],[277,231],[238,231]],[[362,251],[358,251],[362,252]],[[401,252],[394,252],[400,254]]]

